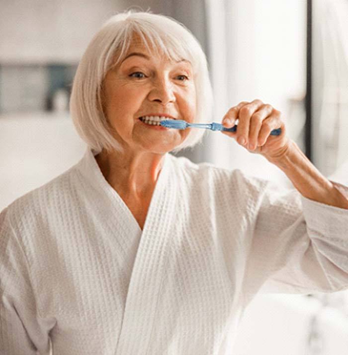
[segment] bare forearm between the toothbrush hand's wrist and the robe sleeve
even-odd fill
[[[300,194],[307,199],[348,209],[348,199],[320,173],[295,142],[290,141],[289,144],[281,157],[268,160],[278,166]]]

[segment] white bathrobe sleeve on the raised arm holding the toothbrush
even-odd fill
[[[347,197],[348,188],[334,183]],[[303,197],[271,182],[244,186],[254,223],[245,293],[318,293],[348,289],[348,210]],[[252,213],[251,213],[252,214]]]

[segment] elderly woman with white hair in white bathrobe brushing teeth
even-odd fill
[[[296,189],[169,154],[204,131],[159,121],[211,112],[205,56],[181,24],[106,22],[71,97],[85,156],[0,214],[1,354],[227,355],[257,292],[348,288],[348,188],[260,100],[231,107],[238,130],[224,134]]]

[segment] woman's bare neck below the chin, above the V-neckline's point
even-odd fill
[[[142,198],[152,193],[163,167],[164,154],[122,154],[102,150],[95,160],[106,181],[118,193]]]

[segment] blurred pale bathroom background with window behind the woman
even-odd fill
[[[0,210],[61,174],[85,152],[69,117],[78,63],[93,34],[129,8],[169,15],[208,59],[221,122],[240,101],[280,110],[316,167],[348,185],[348,0],[0,0]],[[178,153],[292,188],[263,157],[208,132]],[[259,295],[234,355],[343,355],[348,293]]]

